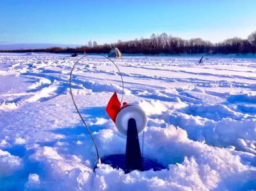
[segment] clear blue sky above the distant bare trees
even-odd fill
[[[255,0],[2,0],[0,44],[103,44],[163,32],[220,42],[256,31],[255,10]]]

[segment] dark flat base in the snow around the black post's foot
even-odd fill
[[[125,173],[131,172],[131,169],[125,168],[125,155],[109,155],[101,158],[101,163],[111,165],[115,169],[123,169]],[[161,171],[162,169],[166,169],[163,165],[147,158],[142,158],[142,163],[143,170],[140,171],[149,171],[150,169]]]

